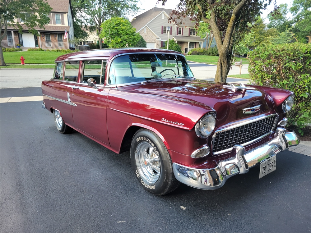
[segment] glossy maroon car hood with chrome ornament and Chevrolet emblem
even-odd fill
[[[260,89],[234,90],[224,87],[226,83],[204,80],[150,82],[127,87],[127,90],[148,94],[186,99],[204,104],[217,112],[217,125],[270,112],[273,104]],[[260,105],[255,113],[244,113],[243,109]]]

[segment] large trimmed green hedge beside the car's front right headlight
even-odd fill
[[[257,85],[287,89],[295,93],[295,102],[288,112],[288,126],[303,129],[311,119],[311,44],[290,43],[266,45],[249,53],[250,80]]]

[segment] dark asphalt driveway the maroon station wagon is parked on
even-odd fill
[[[40,88],[1,89],[0,97]],[[146,192],[129,152],[60,134],[41,101],[0,104],[1,232],[310,232],[310,157],[277,155],[212,191]]]

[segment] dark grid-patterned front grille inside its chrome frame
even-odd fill
[[[272,115],[246,125],[219,132],[216,134],[213,143],[213,153],[232,148],[235,144],[242,145],[266,135],[273,130],[276,117],[276,115]]]

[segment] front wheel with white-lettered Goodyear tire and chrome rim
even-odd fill
[[[141,129],[134,135],[131,161],[137,179],[147,191],[161,196],[178,187],[169,153],[151,130]]]

